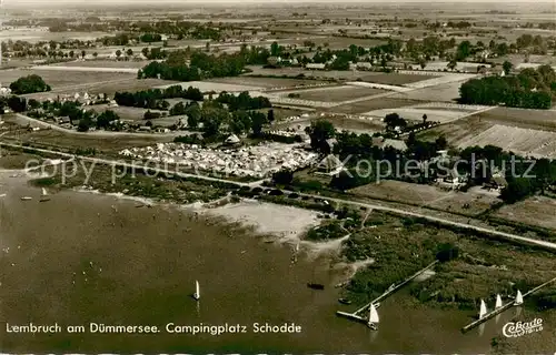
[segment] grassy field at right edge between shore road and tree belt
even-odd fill
[[[512,205],[504,205],[497,211],[495,216],[556,230],[555,211],[556,200],[545,196],[533,196]]]

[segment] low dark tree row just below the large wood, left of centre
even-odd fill
[[[161,104],[165,99],[202,101],[203,97],[199,89],[189,87],[183,90],[181,85],[171,85],[167,89],[149,89],[138,92],[116,92],[113,95],[113,100],[119,105],[143,109],[167,109],[167,104]]]

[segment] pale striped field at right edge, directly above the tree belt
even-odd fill
[[[556,158],[556,133],[495,124],[457,142],[459,148],[496,145],[525,156]]]

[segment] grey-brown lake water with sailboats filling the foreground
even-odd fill
[[[254,235],[209,225],[172,206],[40,191],[1,174],[0,349],[4,352],[481,353],[502,332],[461,334],[468,312],[414,307],[403,294],[379,308],[378,332],[337,317],[337,274]],[[32,201],[20,201],[23,195]],[[113,206],[113,207],[112,207]],[[92,266],[91,266],[92,263]],[[201,300],[191,294],[198,280]],[[312,291],[308,282],[325,284]],[[157,325],[157,334],[12,334],[6,323]],[[255,334],[252,323],[295,323],[299,334]],[[246,334],[168,334],[179,325],[246,325]]]

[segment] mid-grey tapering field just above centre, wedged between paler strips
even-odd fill
[[[288,91],[284,94],[287,97],[287,94],[289,93],[297,93],[299,94],[299,99],[301,100],[342,102],[364,97],[371,97],[385,92],[388,91],[381,89],[345,85],[336,88],[320,88],[314,90]]]

